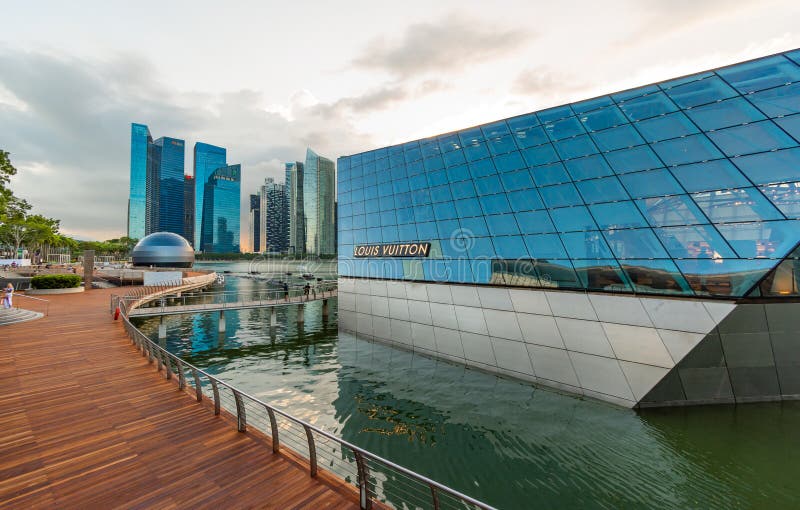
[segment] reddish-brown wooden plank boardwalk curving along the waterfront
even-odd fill
[[[166,381],[110,317],[112,291],[0,328],[0,508],[358,508]]]

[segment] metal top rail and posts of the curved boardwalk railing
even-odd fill
[[[181,292],[182,287],[173,287],[172,291],[174,292]],[[112,296],[112,309],[119,307],[120,314],[123,318],[123,325],[125,327],[125,331],[128,333],[128,336],[131,338],[131,343],[136,345],[142,353],[142,356],[147,356],[150,363],[153,361],[157,361],[157,368],[160,372],[162,368],[165,369],[165,377],[167,379],[172,379],[173,377],[173,368],[172,365],[174,364],[178,370],[178,387],[180,390],[188,391],[188,386],[186,384],[186,377],[184,374],[184,370],[190,370],[192,375],[192,381],[194,382],[194,387],[192,388],[192,392],[195,394],[195,398],[198,402],[203,400],[205,396],[203,394],[202,383],[201,383],[201,376],[208,380],[212,387],[212,396],[211,400],[214,403],[214,414],[220,414],[221,408],[221,396],[220,396],[220,388],[226,388],[233,394],[233,398],[235,401],[235,412],[236,412],[236,427],[237,430],[240,432],[247,431],[247,411],[246,411],[246,403],[245,400],[248,402],[252,402],[259,406],[260,408],[266,410],[267,415],[269,417],[270,422],[270,432],[269,436],[272,440],[272,450],[274,453],[278,453],[280,451],[280,430],[278,427],[278,422],[276,415],[281,416],[290,423],[300,426],[305,431],[305,436],[307,440],[308,446],[308,463],[309,463],[309,473],[310,476],[316,477],[318,475],[318,463],[317,463],[317,441],[315,441],[315,437],[325,438],[329,441],[333,441],[336,445],[339,446],[339,451],[341,452],[341,457],[343,460],[349,460],[345,457],[344,452],[345,449],[348,450],[356,463],[356,483],[355,485],[359,489],[359,503],[360,507],[364,510],[369,510],[372,508],[373,501],[377,500],[377,494],[375,491],[376,484],[370,481],[370,472],[375,468],[384,468],[390,471],[394,471],[395,474],[400,474],[404,476],[406,479],[410,479],[411,482],[414,483],[415,489],[422,489],[424,490],[424,502],[427,505],[432,506],[435,510],[440,508],[440,502],[444,498],[448,498],[452,500],[456,504],[460,504],[462,506],[466,505],[467,507],[478,508],[481,510],[495,510],[494,507],[487,505],[481,501],[478,501],[475,498],[467,496],[466,494],[462,494],[455,489],[451,489],[435,480],[431,480],[430,478],[423,476],[419,473],[416,473],[408,468],[395,464],[394,462],[384,459],[379,455],[370,453],[363,448],[360,448],[344,439],[338,438],[333,434],[330,434],[308,422],[302,420],[300,418],[296,418],[291,414],[278,409],[266,402],[258,399],[257,397],[250,395],[247,392],[241,391],[234,387],[231,384],[226,383],[222,379],[219,379],[208,372],[204,371],[201,368],[198,368],[191,363],[179,358],[178,356],[170,353],[165,348],[158,345],[158,343],[153,342],[148,338],[144,333],[139,331],[136,326],[134,326],[128,317],[129,312],[131,309],[135,308],[139,305],[140,300],[133,301],[131,303],[131,309],[128,307],[127,300],[124,299],[126,296]],[[141,295],[139,295],[141,297]],[[206,397],[209,398],[209,397]],[[267,431],[262,431],[267,433]],[[284,431],[286,432],[286,431]],[[298,452],[293,451],[293,453],[298,456],[302,457]],[[335,455],[335,449],[332,453]],[[373,465],[370,465],[373,464]],[[334,473],[333,471],[330,471]],[[336,473],[334,473],[336,474]],[[348,481],[349,477],[342,477],[345,481]],[[350,479],[352,481],[352,479]],[[373,486],[370,487],[370,484]],[[407,494],[407,493],[406,493]],[[407,497],[407,496],[406,496]],[[418,503],[412,501],[403,501],[404,504],[411,504],[412,506],[419,506]]]

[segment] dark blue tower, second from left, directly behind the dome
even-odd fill
[[[184,235],[184,142],[162,137],[148,144],[145,182],[145,235]]]

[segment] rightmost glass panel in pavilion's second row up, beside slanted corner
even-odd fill
[[[797,244],[800,221],[737,223],[717,229],[741,258],[780,259]]]

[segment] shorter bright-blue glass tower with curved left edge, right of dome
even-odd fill
[[[206,179],[200,235],[203,252],[239,253],[241,185],[241,165],[219,167]]]

